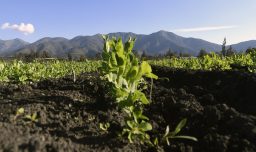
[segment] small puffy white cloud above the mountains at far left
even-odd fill
[[[33,24],[25,24],[25,23],[20,23],[20,24],[10,24],[10,23],[4,23],[1,26],[2,30],[6,29],[11,29],[11,30],[16,30],[19,32],[22,32],[25,35],[32,34],[35,32],[35,27]]]

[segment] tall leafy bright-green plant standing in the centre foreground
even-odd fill
[[[121,38],[110,40],[103,36],[103,39],[103,62],[100,71],[112,84],[116,102],[127,114],[123,134],[127,134],[131,143],[135,139],[147,142],[150,136],[146,132],[152,130],[152,125],[143,115],[143,108],[150,101],[138,86],[145,83],[144,77],[158,77],[152,73],[151,66],[146,61],[140,63],[133,54],[135,39],[129,38],[124,46]]]

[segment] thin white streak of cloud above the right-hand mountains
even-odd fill
[[[196,27],[196,28],[184,28],[177,29],[177,32],[205,32],[205,31],[215,31],[215,30],[224,30],[224,29],[232,29],[236,28],[236,25],[229,26],[208,26],[208,27]]]

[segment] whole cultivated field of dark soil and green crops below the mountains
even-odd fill
[[[113,75],[123,62],[106,69],[109,58],[1,62],[0,149],[256,151],[256,53],[150,60],[152,67],[129,57],[126,67],[131,63],[137,73],[123,71],[121,85]],[[140,70],[143,83],[139,77],[132,94],[118,92],[115,87],[129,86]],[[133,99],[133,105],[123,102]]]

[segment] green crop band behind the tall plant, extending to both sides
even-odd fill
[[[0,61],[0,82],[28,82],[39,81],[47,78],[60,78],[66,75],[76,75],[82,72],[97,71],[102,61],[86,60],[76,61]],[[256,52],[248,54],[236,54],[223,57],[215,53],[200,58],[165,58],[148,61],[151,65],[167,66],[172,68],[192,70],[230,70],[243,68],[250,72],[256,72]]]

